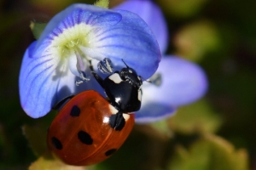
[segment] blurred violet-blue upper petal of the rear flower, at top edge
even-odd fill
[[[166,20],[156,4],[152,1],[128,0],[113,9],[123,9],[138,14],[154,32],[161,53],[166,52],[169,39]]]

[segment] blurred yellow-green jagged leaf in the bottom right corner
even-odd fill
[[[235,150],[228,141],[206,135],[192,144],[189,150],[177,146],[168,169],[182,170],[247,170],[246,150]]]

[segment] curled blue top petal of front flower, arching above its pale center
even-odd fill
[[[41,44],[44,38],[49,37],[49,35],[51,35],[50,37],[57,36],[63,30],[81,22],[95,26],[97,26],[98,23],[101,23],[102,26],[113,26],[121,19],[122,16],[120,14],[113,13],[107,9],[104,10],[94,5],[75,3],[62,10],[59,14],[56,14],[49,21],[49,24],[45,27],[38,40],[38,44]],[[57,35],[55,35],[55,33]]]

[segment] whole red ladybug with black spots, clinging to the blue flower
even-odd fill
[[[93,90],[77,94],[49,127],[49,149],[70,165],[92,165],[112,156],[131,133],[135,122],[131,112],[141,107],[143,82],[135,70],[126,65],[113,72],[108,58],[99,62],[98,69],[110,74],[103,79],[90,64],[108,98]]]

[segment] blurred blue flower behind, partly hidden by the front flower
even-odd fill
[[[114,9],[129,10],[142,17],[154,32],[161,54],[165,54],[168,31],[160,8],[151,1],[131,0]],[[177,56],[164,56],[152,78],[160,84],[143,82],[142,108],[136,112],[138,123],[172,116],[177,107],[195,102],[207,92],[207,76],[201,67]]]

